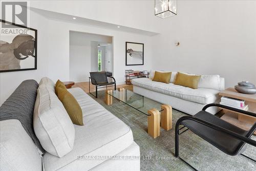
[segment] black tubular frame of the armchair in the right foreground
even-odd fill
[[[223,108],[223,109],[227,109],[227,110],[231,110],[231,111],[234,111],[234,112],[239,112],[239,113],[242,113],[242,114],[246,114],[246,115],[249,115],[249,116],[253,116],[253,117],[256,117],[256,114],[255,113],[252,113],[252,112],[248,112],[248,111],[244,111],[244,110],[240,110],[240,109],[236,109],[236,108],[231,108],[229,106],[226,106],[226,105],[222,105],[222,104],[217,104],[217,103],[210,103],[210,104],[207,104],[204,106],[204,108],[202,109],[202,111],[205,111],[207,108],[211,107],[211,106],[217,106],[217,107],[220,107],[220,108]],[[182,125],[182,121],[184,120],[193,120],[199,124],[203,124],[205,126],[208,126],[210,127],[211,129],[214,129],[214,130],[217,130],[217,131],[220,131],[222,133],[225,133],[226,135],[228,136],[232,136],[233,138],[236,138],[240,141],[243,141],[244,143],[248,143],[252,146],[255,146],[256,147],[256,141],[250,139],[247,137],[247,135],[251,135],[255,130],[256,130],[256,122],[252,125],[252,127],[250,128],[250,130],[248,131],[247,135],[246,136],[243,136],[243,135],[240,135],[240,134],[237,134],[237,133],[234,133],[230,130],[227,130],[227,129],[224,129],[223,127],[221,126],[218,126],[218,125],[215,125],[215,124],[212,124],[210,122],[207,122],[207,121],[204,121],[202,119],[199,119],[199,118],[196,118],[196,117],[193,117],[193,116],[183,116],[181,117],[180,119],[178,119],[177,123],[176,123],[176,126],[175,126],[175,157],[178,157],[179,159],[181,159],[185,164],[187,164],[189,167],[191,167],[192,169],[194,170],[197,170],[195,167],[191,166],[189,163],[187,163],[185,160],[183,160],[180,156],[179,156],[179,135],[181,135],[182,133],[184,133],[185,131],[189,130],[189,128],[187,128],[185,131],[182,131],[180,133],[180,130],[182,130],[184,127],[186,126],[182,126],[180,128],[180,125]],[[243,146],[242,146],[243,147]],[[237,154],[239,153],[239,151],[242,149],[242,147],[238,150]],[[243,154],[240,154],[241,156],[244,156],[254,162],[256,162],[256,160],[254,159],[251,159],[250,157],[248,156],[245,156]]]

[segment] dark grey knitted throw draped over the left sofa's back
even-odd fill
[[[33,79],[20,83],[10,97],[1,105],[0,120],[18,119],[36,146],[42,153],[45,153],[45,149],[42,148],[33,129],[33,113],[37,88],[38,83]]]

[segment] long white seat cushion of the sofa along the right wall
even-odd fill
[[[173,83],[162,83],[152,81],[150,78],[135,78],[132,84],[142,87],[144,89],[174,96],[180,99],[194,101],[197,103],[208,104],[215,102],[219,98],[219,91],[212,89],[191,89],[175,85]]]

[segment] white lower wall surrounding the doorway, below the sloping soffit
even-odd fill
[[[0,73],[0,104],[10,96],[23,80],[35,79],[39,82],[40,78],[45,76],[53,81],[57,81],[57,79],[61,81],[70,80],[70,31],[114,36],[113,74],[118,83],[124,83],[125,69],[150,70],[152,67],[152,38],[149,36],[53,20],[34,11],[30,11],[30,19],[30,27],[37,29],[38,34],[37,70]],[[125,41],[144,43],[144,66],[125,67]]]

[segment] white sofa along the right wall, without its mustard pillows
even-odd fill
[[[219,92],[225,87],[224,78],[219,75],[202,75],[199,88],[191,89],[174,84],[177,72],[172,72],[169,83],[153,81],[154,72],[151,71],[150,78],[133,79],[133,91],[190,115],[201,111],[205,104],[217,101]],[[219,109],[214,107],[207,111],[216,114]]]

